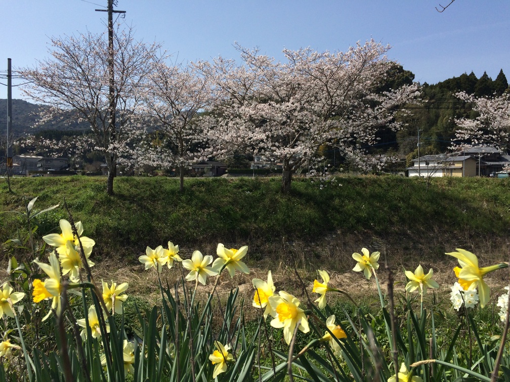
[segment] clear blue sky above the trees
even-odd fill
[[[106,0],[0,0],[0,76],[49,57],[49,37],[106,29]],[[282,49],[346,50],[374,38],[389,57],[437,83],[471,71],[510,80],[510,2],[456,0],[118,0],[136,38],[157,41],[179,62],[221,55],[239,59],[235,41],[283,60]],[[0,83],[6,84],[5,79]],[[14,85],[19,81],[14,81]],[[13,97],[21,98],[17,88]],[[7,98],[0,85],[0,98]]]

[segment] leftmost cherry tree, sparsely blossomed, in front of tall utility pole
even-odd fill
[[[115,131],[109,117],[109,72],[107,34],[87,33],[52,38],[51,58],[38,61],[34,68],[18,74],[29,82],[24,93],[41,108],[41,123],[56,117],[87,122],[93,132],[94,148],[105,154],[108,165],[107,193],[113,194],[117,161],[139,138],[142,127],[135,124],[139,105],[137,88],[143,85],[150,64],[158,62],[160,46],[137,42],[131,28],[114,34]]]

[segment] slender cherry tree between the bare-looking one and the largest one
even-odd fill
[[[206,152],[207,136],[200,112],[212,102],[210,81],[192,66],[160,62],[152,66],[140,96],[143,114],[160,133],[157,147],[146,147],[149,155],[145,151],[145,162],[179,169],[182,192],[185,170]]]

